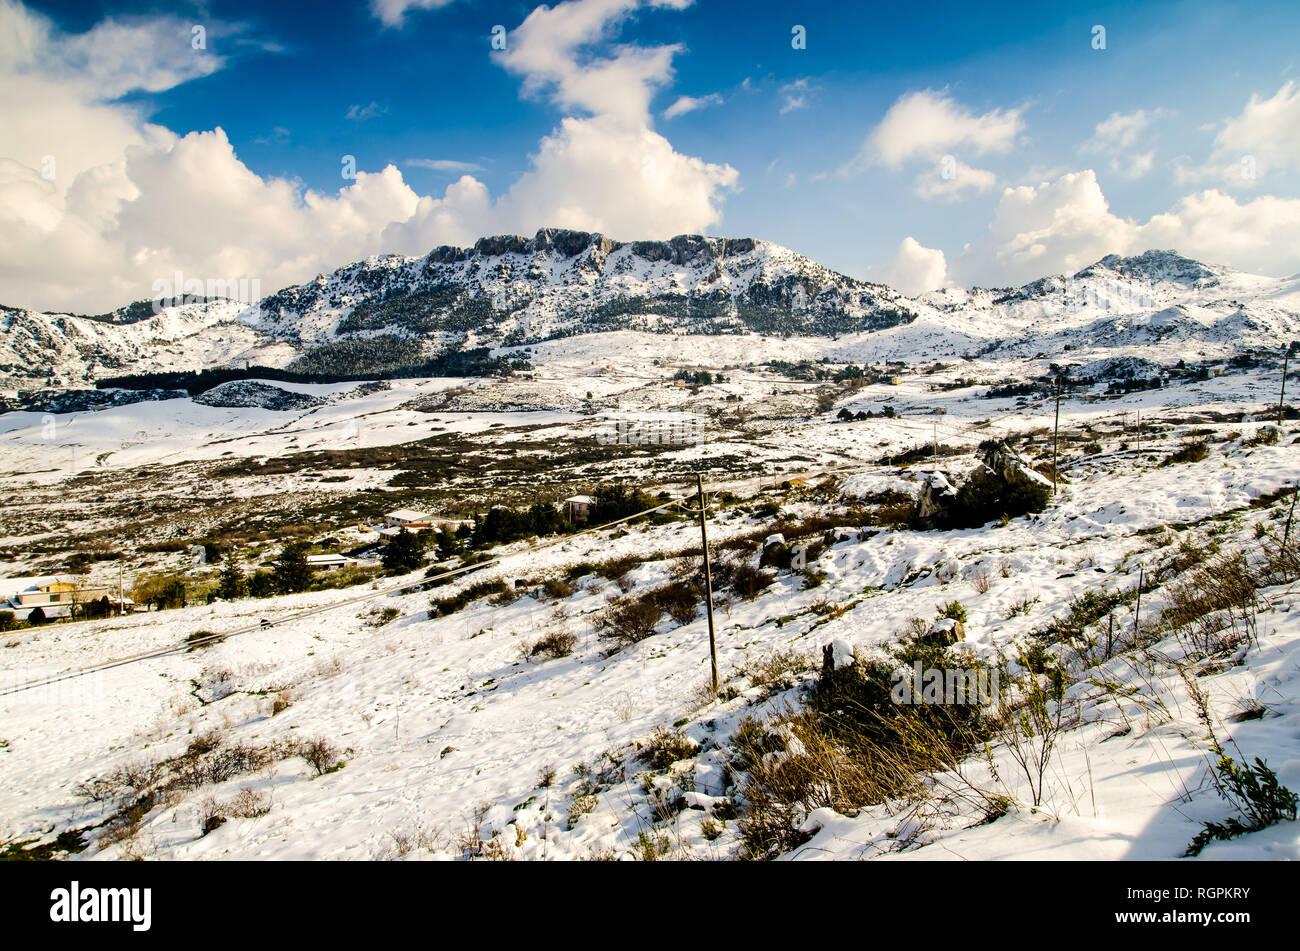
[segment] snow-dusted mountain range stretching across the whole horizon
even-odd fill
[[[828,351],[855,359],[1164,347],[1178,351],[1174,361],[1278,346],[1300,336],[1297,314],[1300,275],[1258,277],[1174,251],[1109,255],[1018,288],[913,299],[753,238],[618,242],[543,229],[424,257],[369,257],[254,305],[142,301],[98,317],[0,308],[0,387],[84,387],[304,356],[304,369],[346,372],[363,360],[411,365],[611,330],[848,338]]]

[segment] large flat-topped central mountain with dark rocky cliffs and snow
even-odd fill
[[[266,298],[260,325],[304,346],[359,334],[485,346],[611,329],[833,335],[914,316],[898,292],[770,242],[543,229],[368,259]]]

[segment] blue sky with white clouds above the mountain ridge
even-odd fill
[[[0,82],[75,100],[47,125],[104,122],[122,156],[17,117],[0,160],[73,171],[9,223],[87,264],[12,261],[0,299],[108,300],[173,266],[276,285],[542,225],[753,235],[907,291],[1156,242],[1300,270],[1294,3],[534,6],[0,0],[39,34]],[[203,240],[166,217],[187,207]]]

